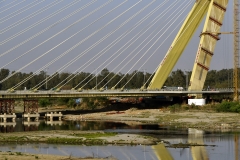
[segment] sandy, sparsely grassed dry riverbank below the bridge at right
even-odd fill
[[[83,121],[121,121],[129,125],[142,123],[158,123],[181,128],[200,128],[214,130],[240,129],[239,113],[217,113],[212,110],[186,110],[171,112],[169,109],[135,108],[126,111],[109,111],[80,115],[65,115],[65,120]]]

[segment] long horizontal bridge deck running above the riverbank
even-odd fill
[[[232,94],[231,89],[222,89],[215,91],[140,91],[140,90],[83,90],[81,92],[72,90],[55,91],[15,91],[13,93],[0,91],[0,99],[14,99],[14,98],[58,98],[58,97],[155,97],[155,96],[187,96],[189,94],[204,94],[204,95],[216,95],[216,94]]]

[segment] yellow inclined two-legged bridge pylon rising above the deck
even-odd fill
[[[190,80],[190,91],[201,91],[207,76],[228,0],[198,0],[183,23],[169,51],[162,60],[148,89],[161,89],[191,37],[206,16]],[[215,34],[214,34],[215,32]]]

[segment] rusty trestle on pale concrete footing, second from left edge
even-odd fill
[[[38,121],[40,117],[38,113],[38,100],[24,100],[24,113],[22,116],[23,119],[28,122],[30,122],[31,119]]]

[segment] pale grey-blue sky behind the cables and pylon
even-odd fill
[[[129,70],[131,73],[133,70],[139,69],[147,58],[156,51],[149,61],[140,69],[140,71],[153,72],[166,54],[180,27],[180,22],[184,20],[184,17],[192,8],[195,0],[168,0],[165,4],[164,0],[131,0],[124,2],[124,0],[0,1],[0,67],[2,68],[6,65],[4,68],[10,70],[16,71],[23,68],[21,72],[35,72],[48,62],[55,61],[54,58],[68,52],[67,50],[77,43],[80,43],[76,48],[66,53],[65,56],[44,70],[51,74],[64,64],[73,60],[76,56],[84,54],[63,71],[74,72],[78,70],[92,72],[99,66],[101,67],[98,70],[105,68],[104,66],[107,64],[109,65],[107,65],[106,68],[112,71],[112,69],[117,67],[118,64],[125,59],[120,67],[113,71],[117,72],[128,60],[134,57],[133,55],[137,54],[135,58],[121,70],[122,73],[126,73]],[[189,2],[191,3],[187,6]],[[224,32],[233,31],[232,3],[232,0],[230,0],[222,27],[222,31]],[[173,6],[174,4],[175,6]],[[95,12],[95,10],[101,6],[102,8]],[[64,7],[66,9],[64,9]],[[172,9],[168,9],[168,7]],[[153,12],[155,9],[156,12]],[[185,11],[181,13],[183,9],[185,9]],[[136,26],[142,18],[151,12],[153,12],[151,16],[147,17],[139,26]],[[72,14],[72,16],[70,16],[70,14]],[[158,16],[159,18],[157,18]],[[65,19],[63,20],[63,18]],[[154,21],[156,24],[152,25],[152,28],[148,28],[154,23],[152,21],[155,18],[157,18]],[[126,20],[128,21],[126,22]],[[70,25],[72,26],[68,27]],[[66,29],[66,27],[68,28]],[[176,30],[174,30],[175,27]],[[182,54],[174,70],[192,70],[202,27],[203,23]],[[64,31],[59,33],[61,30]],[[130,30],[132,31],[126,35]],[[173,33],[171,34],[172,31]],[[73,36],[74,34],[76,35]],[[141,37],[134,38],[141,34]],[[169,35],[170,37],[166,39]],[[54,37],[51,38],[52,36]],[[70,38],[71,36],[73,37]],[[104,54],[102,53],[103,55],[94,61],[94,63],[86,66],[93,61],[91,60],[92,57],[101,54],[100,51],[112,42],[115,42],[115,40],[118,40],[121,36],[125,37],[116,45],[111,46]],[[30,37],[32,37],[32,39],[28,40]],[[103,38],[106,39],[103,40]],[[158,38],[160,39],[156,41]],[[214,52],[210,70],[232,68],[232,39],[232,35],[221,35],[221,40],[218,41]],[[158,47],[159,49],[157,49]],[[41,55],[44,56],[36,60],[36,58]],[[117,55],[118,57],[116,57]],[[128,55],[130,56],[128,57]],[[140,57],[143,58],[139,60]],[[110,60],[107,61],[108,58],[110,58]],[[13,60],[14,62],[11,62]],[[110,63],[111,60],[112,62]],[[33,61],[35,62],[29,64]],[[105,61],[106,63],[103,65]],[[138,61],[139,63],[133,67],[135,62]],[[86,65],[83,66],[85,63]],[[28,64],[28,67],[24,67]],[[82,68],[78,69],[81,66]]]

